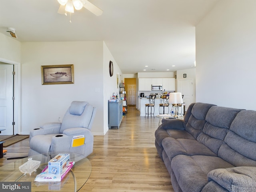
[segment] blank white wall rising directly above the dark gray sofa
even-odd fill
[[[196,102],[256,110],[255,8],[221,0],[196,26]]]

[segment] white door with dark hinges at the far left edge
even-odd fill
[[[0,64],[0,129],[1,135],[13,134],[13,65]]]

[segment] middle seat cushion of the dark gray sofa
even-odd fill
[[[174,139],[171,137],[164,138],[162,141],[162,146],[169,157],[169,160],[172,161],[177,155],[207,155],[207,156],[217,156],[204,144],[191,139]]]

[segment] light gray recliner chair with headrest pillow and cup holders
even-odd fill
[[[75,152],[88,156],[93,150],[91,133],[96,108],[88,102],[73,101],[61,122],[46,123],[30,131],[28,156],[48,152]],[[84,135],[84,144],[72,147],[73,136]]]

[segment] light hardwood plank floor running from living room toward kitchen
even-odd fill
[[[158,108],[156,107],[156,110]],[[154,132],[159,118],[144,118],[134,106],[128,106],[119,129],[108,130],[105,136],[94,136],[94,150],[87,158],[92,174],[81,192],[174,192],[170,175],[158,156]],[[0,166],[26,156],[29,139],[5,148]]]

